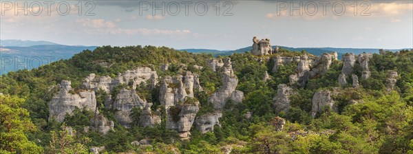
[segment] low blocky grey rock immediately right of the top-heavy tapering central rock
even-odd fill
[[[222,117],[222,113],[210,113],[198,116],[195,118],[196,129],[200,130],[202,133],[213,131],[215,125],[221,126],[220,120],[218,120],[220,117]]]

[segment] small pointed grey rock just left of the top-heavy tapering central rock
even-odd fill
[[[160,116],[151,111],[152,103],[147,103],[139,117],[139,126],[155,126],[160,124]]]

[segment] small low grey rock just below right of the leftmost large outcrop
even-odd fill
[[[115,123],[112,120],[107,120],[103,115],[96,115],[96,119],[90,120],[91,126],[88,129],[97,130],[99,133],[107,134],[110,130],[114,130]]]

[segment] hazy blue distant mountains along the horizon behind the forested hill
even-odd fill
[[[317,56],[326,52],[337,52],[339,57],[347,52],[352,52],[354,54],[360,54],[363,52],[379,52],[379,49],[362,48],[279,47],[295,52],[306,50],[306,52]],[[96,49],[96,46],[60,45],[49,41],[0,40],[0,75],[6,74],[10,71],[17,71],[18,69],[33,69],[53,61],[70,58],[74,56],[74,54],[82,52],[83,50],[94,49]],[[195,54],[213,54],[213,56],[227,56],[234,53],[249,52],[251,50],[252,47],[249,46],[238,50],[182,49],[179,51],[187,51]],[[389,51],[397,52],[399,50]]]

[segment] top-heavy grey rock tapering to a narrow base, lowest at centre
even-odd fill
[[[189,139],[191,126],[199,111],[199,102],[195,104],[178,104],[175,107],[167,108],[167,129],[178,131],[182,139]],[[175,111],[171,111],[175,109]],[[179,112],[177,112],[179,111]]]

